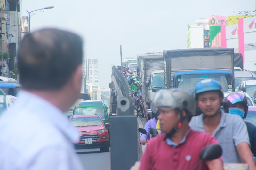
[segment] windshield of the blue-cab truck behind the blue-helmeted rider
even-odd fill
[[[224,92],[227,92],[229,87],[233,87],[232,76],[230,74],[186,74],[176,77],[176,88],[187,90],[195,87],[197,83],[204,79],[214,79],[220,83]],[[232,85],[232,86],[230,86]]]

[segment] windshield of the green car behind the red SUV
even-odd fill
[[[93,115],[97,114],[102,120],[106,119],[106,113],[104,107],[82,107],[75,108],[73,115]]]

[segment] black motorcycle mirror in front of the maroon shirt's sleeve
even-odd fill
[[[193,170],[196,170],[196,168],[204,161],[210,161],[213,159],[217,159],[222,155],[222,148],[219,144],[211,144],[208,146],[205,146],[201,152],[200,152],[200,161],[196,164],[196,166],[193,168]]]

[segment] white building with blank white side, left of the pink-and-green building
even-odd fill
[[[209,39],[209,19],[199,18],[192,26],[188,26],[187,48],[207,47]]]

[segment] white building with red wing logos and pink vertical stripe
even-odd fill
[[[236,19],[237,18],[237,19]],[[228,16],[222,47],[234,48],[243,55],[244,69],[256,71],[256,17]]]

